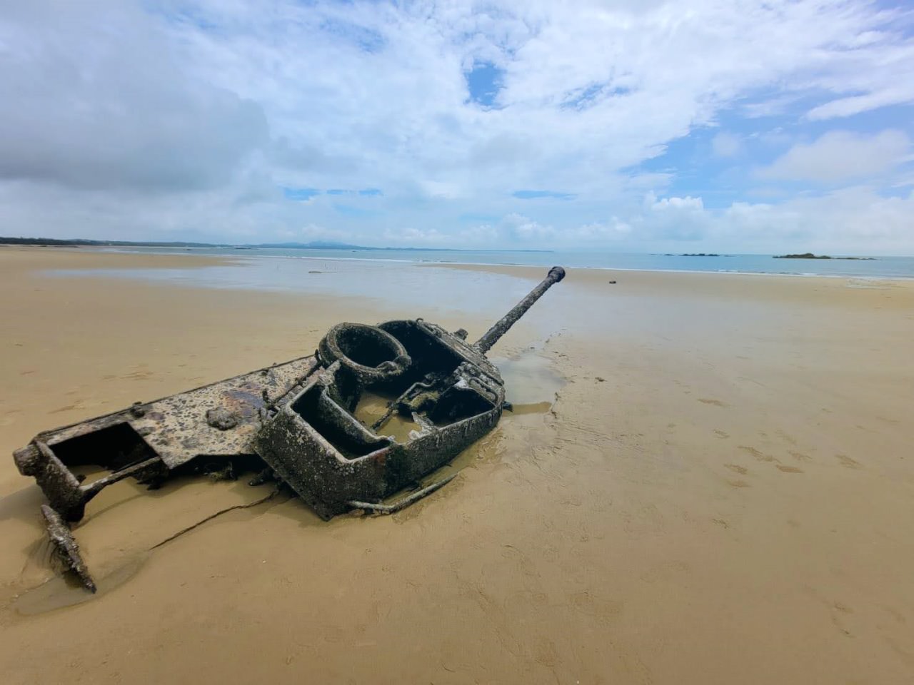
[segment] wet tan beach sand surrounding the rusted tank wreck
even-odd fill
[[[280,497],[149,551],[269,489],[122,483],[76,529],[101,585],[82,601],[48,572],[41,493],[14,448],[309,353],[336,321],[414,315],[44,273],[217,264],[232,261],[0,248],[4,682],[914,680],[900,281],[569,272],[494,351],[525,410],[446,488],[329,523]],[[473,321],[434,312],[471,336],[545,271],[409,269],[468,290],[504,279]]]

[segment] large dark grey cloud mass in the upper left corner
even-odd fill
[[[0,179],[86,190],[228,183],[267,141],[260,105],[186,78],[154,20],[98,2],[14,3],[0,19]]]

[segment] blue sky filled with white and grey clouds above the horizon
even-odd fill
[[[0,235],[914,255],[914,3],[0,0]]]

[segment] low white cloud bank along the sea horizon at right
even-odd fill
[[[823,225],[831,230],[824,232]],[[510,241],[514,247],[635,251],[696,251],[701,245],[702,251],[731,253],[914,254],[914,192],[883,196],[866,186],[852,186],[780,204],[734,202],[721,208],[708,208],[700,197],[648,194],[640,206],[606,221],[554,227],[514,214],[484,229],[484,236],[474,236],[479,240],[464,244],[486,247]]]

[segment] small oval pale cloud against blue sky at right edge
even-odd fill
[[[810,143],[797,143],[756,174],[762,179],[842,183],[876,177],[910,159],[904,132],[866,135],[831,131]]]

